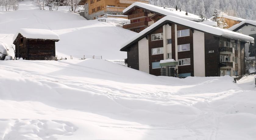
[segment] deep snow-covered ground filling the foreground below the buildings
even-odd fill
[[[0,140],[255,139],[254,75],[178,79],[99,59],[0,61]]]

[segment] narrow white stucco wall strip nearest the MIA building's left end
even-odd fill
[[[148,52],[148,40],[146,37],[138,42],[139,45],[139,70],[149,73],[149,52]]]

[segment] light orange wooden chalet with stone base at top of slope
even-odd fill
[[[84,5],[84,11],[80,12],[88,20],[105,16],[125,18],[123,10],[134,2],[148,3],[148,0],[81,0],[79,5]]]

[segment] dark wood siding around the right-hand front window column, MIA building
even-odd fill
[[[186,29],[189,29],[189,28],[177,25],[177,31],[186,30]],[[178,73],[180,73],[180,74],[191,73],[191,76],[194,76],[193,32],[192,32],[192,30],[190,30],[190,36],[177,38],[177,45],[182,45],[182,44],[190,44],[190,51],[178,52],[178,59],[190,58],[190,65],[178,66]]]

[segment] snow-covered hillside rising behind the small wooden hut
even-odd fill
[[[31,1],[20,2],[17,11],[0,11],[0,42],[12,45],[12,37],[20,28],[52,30],[60,36],[56,55],[75,58],[101,56],[103,59],[124,59],[120,45],[135,32],[117,27],[116,23],[86,20],[60,7],[58,11],[39,10]],[[14,56],[13,51],[11,51]]]

